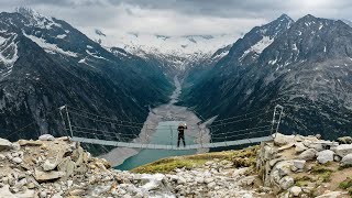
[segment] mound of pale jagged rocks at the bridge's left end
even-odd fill
[[[11,143],[0,139],[2,197],[68,197],[88,195],[96,183],[113,180],[107,161],[91,157],[68,138],[40,136]]]

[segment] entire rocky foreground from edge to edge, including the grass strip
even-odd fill
[[[68,138],[0,139],[0,197],[350,197],[352,144],[343,141],[277,134],[121,172]]]

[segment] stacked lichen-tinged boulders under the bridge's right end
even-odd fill
[[[349,138],[339,142],[319,138],[277,133],[274,142],[262,143],[256,164],[264,184],[282,197],[331,194],[331,177],[352,165],[352,144]],[[334,194],[349,197],[341,191]]]

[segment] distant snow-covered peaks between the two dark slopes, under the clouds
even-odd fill
[[[174,55],[215,53],[238,38],[231,34],[170,36],[134,32],[109,35],[98,29],[88,30],[85,33],[105,47],[120,47],[133,54],[141,50],[146,53],[157,52]]]

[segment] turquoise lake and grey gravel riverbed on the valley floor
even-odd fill
[[[208,143],[210,141],[209,130],[206,125],[211,120],[200,123],[201,120],[187,107],[176,106],[177,99],[182,92],[182,85],[175,76],[175,91],[170,96],[170,101],[154,109],[151,109],[140,138],[133,142],[144,142],[148,136],[148,142],[154,144],[170,145],[177,144],[177,127],[180,122],[186,122],[188,130],[185,131],[186,144]],[[147,130],[154,125],[153,130]],[[180,146],[183,144],[180,143]],[[128,147],[116,147],[109,153],[101,155],[119,169],[131,169],[136,166],[154,162],[160,158],[188,155],[195,153],[205,153],[208,148],[189,151],[163,151],[163,150],[136,150]]]

